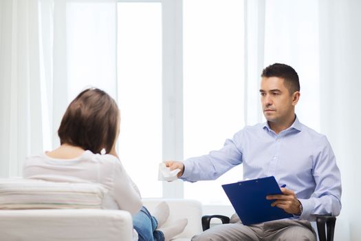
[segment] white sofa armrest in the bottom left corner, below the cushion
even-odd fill
[[[0,210],[0,240],[131,241],[131,213],[105,209]]]

